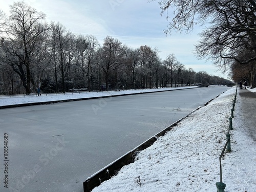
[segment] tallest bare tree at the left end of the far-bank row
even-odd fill
[[[6,62],[19,75],[26,89],[31,93],[31,61],[33,52],[40,41],[44,40],[47,28],[40,21],[45,14],[37,12],[24,2],[17,2],[10,6],[10,18],[7,23],[5,38],[2,38],[2,47],[6,54]]]

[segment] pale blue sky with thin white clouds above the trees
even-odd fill
[[[9,5],[13,0],[0,0],[0,9],[9,14]],[[166,14],[161,16],[158,1],[148,0],[24,0],[37,11],[47,15],[47,22],[59,22],[68,30],[77,34],[90,34],[97,37],[102,45],[103,39],[109,35],[119,39],[132,48],[142,45],[158,48],[162,60],[169,54],[175,54],[186,68],[196,72],[206,71],[210,75],[227,78],[226,74],[216,72],[217,68],[198,60],[195,44],[199,40],[197,27],[191,34],[175,33],[165,35],[168,21]],[[168,11],[172,14],[172,11]],[[169,15],[171,16],[171,15]]]

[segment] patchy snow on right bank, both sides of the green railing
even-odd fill
[[[105,191],[217,191],[220,182],[219,156],[226,143],[236,87],[227,90],[190,114],[146,150],[117,176],[93,192]],[[256,91],[255,91],[256,92]],[[238,94],[235,109],[240,108]],[[234,113],[231,152],[222,158],[225,191],[256,191],[256,142]]]

